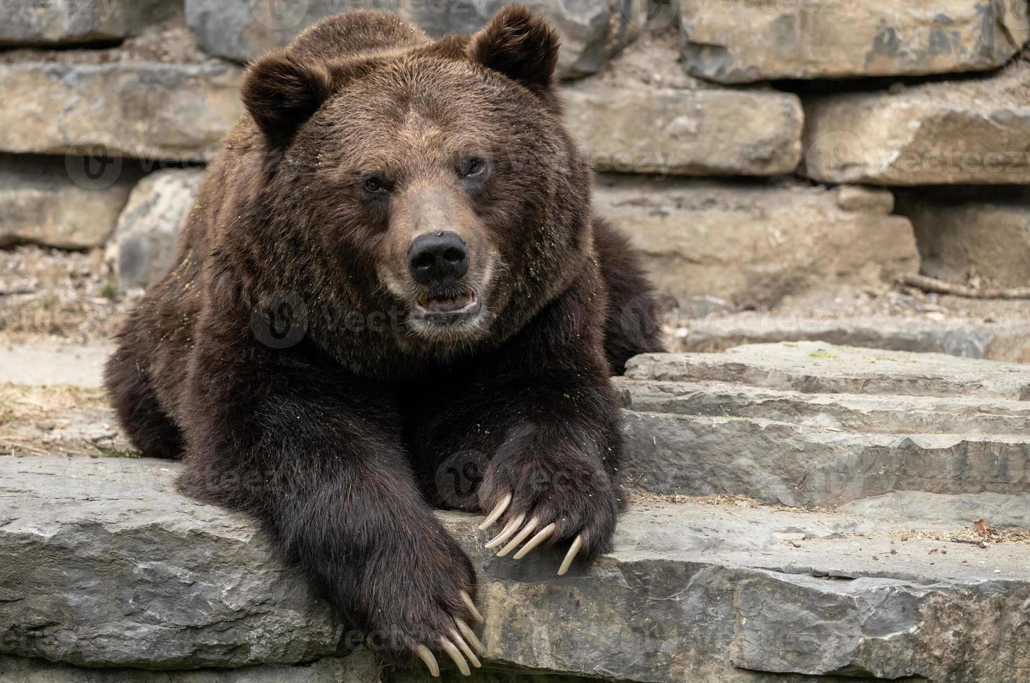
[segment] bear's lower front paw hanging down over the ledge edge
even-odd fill
[[[456,547],[423,548],[408,561],[391,557],[373,570],[362,590],[368,638],[373,649],[404,663],[421,659],[440,676],[434,652],[450,657],[465,675],[480,667],[485,651],[470,623],[483,622],[472,599],[475,576]]]

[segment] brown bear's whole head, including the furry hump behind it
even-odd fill
[[[339,307],[335,331],[313,316],[320,341],[447,356],[510,337],[592,272],[590,173],[562,124],[557,54],[520,7],[436,41],[352,12],[251,65],[258,239],[294,265],[291,289]],[[355,311],[387,312],[384,339],[341,329]]]

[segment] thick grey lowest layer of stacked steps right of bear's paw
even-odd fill
[[[894,490],[1030,492],[1030,436],[862,434],[627,411],[626,486],[836,507]]]

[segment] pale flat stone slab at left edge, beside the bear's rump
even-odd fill
[[[101,386],[104,364],[113,350],[110,344],[0,345],[0,383]]]

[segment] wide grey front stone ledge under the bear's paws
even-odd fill
[[[4,680],[49,672],[136,681],[97,669],[130,667],[235,683],[276,680],[311,661],[291,680],[423,680],[404,670],[373,676],[364,650],[341,659],[347,631],[335,612],[283,571],[244,517],[177,493],[177,469],[0,457]],[[554,551],[495,558],[478,518],[441,518],[477,568],[485,662],[496,672],[487,680],[516,680],[506,671],[574,677],[555,679],[568,683],[1026,680],[1027,534],[973,527],[999,510],[1025,510],[1026,499],[976,507],[923,494],[870,507],[867,517],[636,500],[613,552],[563,578]],[[90,678],[70,667],[90,667]],[[205,667],[219,669],[210,678],[193,671]],[[251,667],[252,678],[238,667]]]

